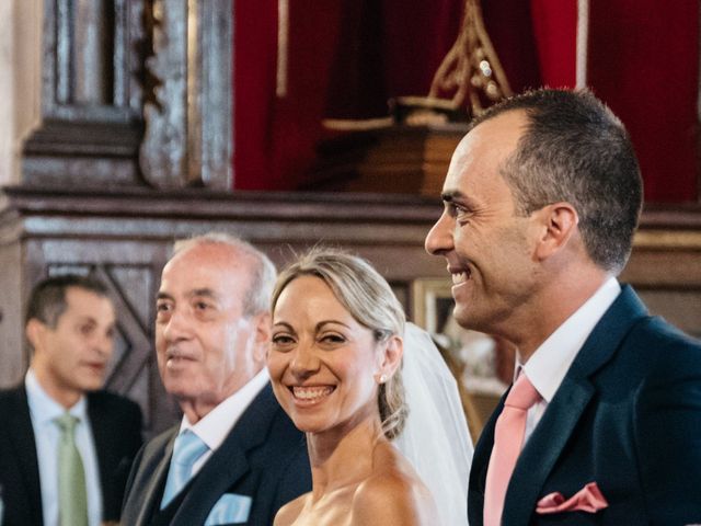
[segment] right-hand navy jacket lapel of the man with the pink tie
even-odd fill
[[[632,288],[625,286],[599,320],[518,458],[506,493],[504,524],[528,524],[548,476],[596,393],[590,377],[613,357],[646,313]]]

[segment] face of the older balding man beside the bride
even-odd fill
[[[196,245],[163,268],[156,352],[165,390],[216,405],[260,369],[255,322],[243,316],[250,263],[222,244]]]

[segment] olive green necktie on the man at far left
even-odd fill
[[[83,461],[76,447],[78,419],[70,413],[54,419],[58,441],[58,516],[60,526],[88,526],[88,494]]]

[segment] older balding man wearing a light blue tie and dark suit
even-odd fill
[[[267,256],[230,236],[175,244],[158,293],[156,352],[184,415],[140,451],[125,524],[269,525],[311,489],[304,437],[264,367],[274,283]]]

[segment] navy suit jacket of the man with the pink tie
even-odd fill
[[[494,425],[478,442],[468,515],[482,524]],[[609,506],[596,514],[536,513],[596,482]],[[506,493],[503,524],[701,523],[701,344],[652,318],[633,289],[594,329],[526,443]]]

